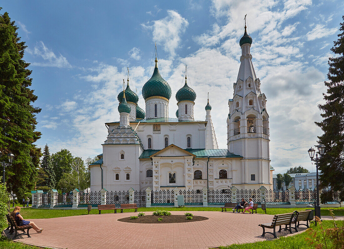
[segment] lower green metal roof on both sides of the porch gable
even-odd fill
[[[145,149],[139,158],[150,158],[151,155],[161,151],[161,149]],[[243,158],[242,156],[235,155],[233,153],[228,152],[228,149],[185,149],[185,151],[196,155],[196,157],[239,157]]]

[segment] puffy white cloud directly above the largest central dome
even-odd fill
[[[153,41],[157,41],[166,52],[174,56],[175,50],[181,43],[180,35],[185,32],[189,22],[178,12],[168,10],[165,18],[152,21],[152,25],[149,23],[141,25],[152,31]]]

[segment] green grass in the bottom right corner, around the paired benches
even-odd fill
[[[336,224],[338,226],[338,222]],[[322,226],[324,229],[333,228],[334,222],[333,222],[333,220],[323,220]],[[318,224],[318,226],[311,224],[310,228],[312,228],[313,230],[316,230],[316,231],[320,230],[319,224]],[[269,230],[271,230],[271,229],[269,229]],[[307,230],[305,230],[304,232],[301,232],[300,234],[297,234],[297,235],[280,237],[278,239],[258,241],[258,242],[253,242],[253,243],[232,244],[229,246],[218,247],[218,249],[252,249],[252,248],[254,248],[254,249],[267,249],[267,248],[273,248],[273,249],[296,249],[296,248],[314,249],[314,246],[311,246],[309,241],[306,240],[306,238],[309,238],[309,237],[310,237],[310,234],[308,233]],[[327,242],[330,242],[330,241],[327,241]],[[332,248],[331,243],[327,244],[327,248]]]

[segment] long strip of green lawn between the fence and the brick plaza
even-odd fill
[[[151,208],[139,208],[139,212],[148,212],[155,210],[167,210],[167,211],[221,211],[218,207],[151,207]],[[267,214],[284,214],[288,212],[293,212],[294,210],[305,210],[309,208],[268,208]],[[321,215],[329,216],[329,209],[333,210],[335,216],[344,216],[344,207],[342,208],[322,208]],[[259,214],[264,214],[260,208],[258,208]],[[114,210],[102,210],[101,213],[112,213]],[[126,209],[124,212],[133,212],[133,209]],[[61,209],[35,209],[35,208],[22,208],[20,210],[21,215],[24,219],[43,219],[43,218],[56,218],[56,217],[66,217],[66,216],[76,216],[76,215],[87,215],[87,209],[78,210],[61,210]],[[90,214],[98,214],[98,209],[92,209]]]

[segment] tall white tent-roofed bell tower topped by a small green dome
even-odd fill
[[[241,56],[233,98],[229,99],[227,118],[228,151],[243,156],[237,167],[236,183],[241,189],[270,189],[269,115],[266,97],[260,92],[250,48],[252,38],[245,32],[240,39]]]

